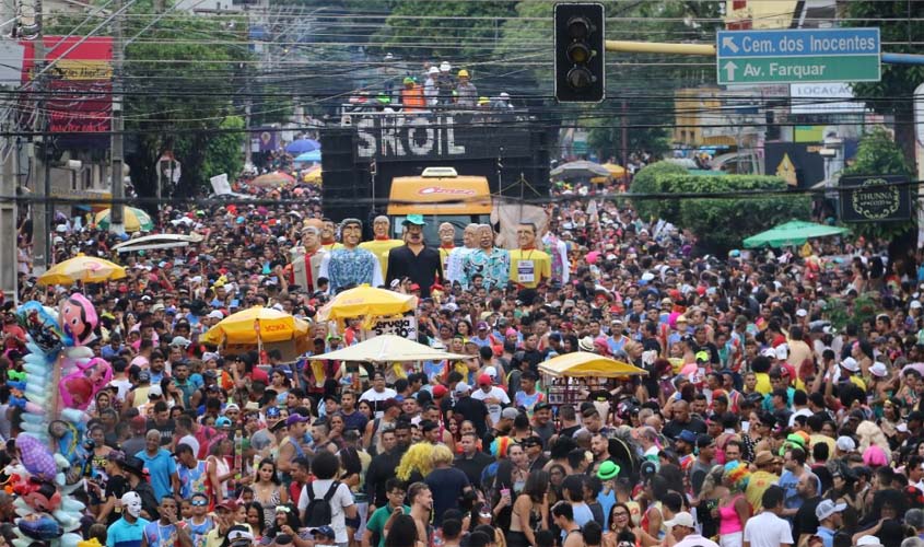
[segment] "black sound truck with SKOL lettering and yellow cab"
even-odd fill
[[[377,214],[398,229],[424,214],[428,243],[438,222],[456,225],[461,243],[461,229],[488,222],[499,202],[548,198],[549,127],[525,110],[344,109],[320,132],[324,213],[358,218],[366,232]]]

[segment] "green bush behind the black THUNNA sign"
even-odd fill
[[[912,176],[912,173],[901,147],[885,129],[877,127],[861,139],[854,162],[842,174]],[[911,203],[914,209],[917,200],[912,199]],[[912,214],[911,220],[904,222],[857,222],[851,224],[851,230],[857,236],[891,241],[915,226]]]

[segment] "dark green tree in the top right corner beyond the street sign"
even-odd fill
[[[844,26],[877,26],[889,53],[920,54],[924,39],[924,2],[844,2]],[[896,140],[914,164],[914,89],[924,83],[924,66],[882,65],[878,82],[852,84],[854,93],[877,113],[894,116]]]

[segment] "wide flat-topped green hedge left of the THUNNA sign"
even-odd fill
[[[678,175],[657,177],[659,191],[669,194],[715,194],[745,190],[783,190],[786,182],[775,176]],[[633,188],[634,189],[634,188]],[[669,199],[669,198],[668,198]],[[664,201],[667,201],[665,199]],[[760,196],[734,199],[674,199],[679,228],[692,231],[699,245],[713,253],[739,247],[741,241],[792,219],[808,218],[807,196]],[[668,208],[668,214],[670,210]]]

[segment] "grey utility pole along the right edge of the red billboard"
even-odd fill
[[[125,186],[122,158],[122,60],[125,59],[125,40],[122,39],[122,0],[115,0],[113,8],[116,13],[113,20],[113,137],[109,148],[109,167],[113,185],[113,205],[109,211],[109,231],[117,234],[125,233]]]

